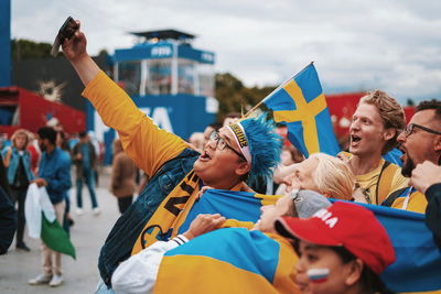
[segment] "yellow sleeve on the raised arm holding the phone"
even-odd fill
[[[118,131],[127,155],[149,176],[187,146],[178,135],[159,129],[104,72],[82,95],[90,100],[103,122]]]

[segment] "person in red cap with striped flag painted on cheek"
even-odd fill
[[[395,261],[394,247],[370,210],[337,202],[309,219],[280,217],[275,227],[294,240],[300,293],[391,293],[379,274]]]

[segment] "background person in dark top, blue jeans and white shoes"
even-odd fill
[[[83,182],[85,182],[90,195],[92,209],[97,216],[101,213],[95,194],[97,155],[86,131],[79,133],[79,142],[72,151],[72,159],[76,166],[76,213],[83,214]]]

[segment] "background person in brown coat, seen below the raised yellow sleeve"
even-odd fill
[[[115,140],[110,186],[111,193],[118,198],[118,207],[121,215],[133,200],[136,172],[137,166],[123,152],[121,140]]]

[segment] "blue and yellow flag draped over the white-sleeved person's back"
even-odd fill
[[[165,253],[153,293],[299,293],[297,254],[278,235],[225,228]]]

